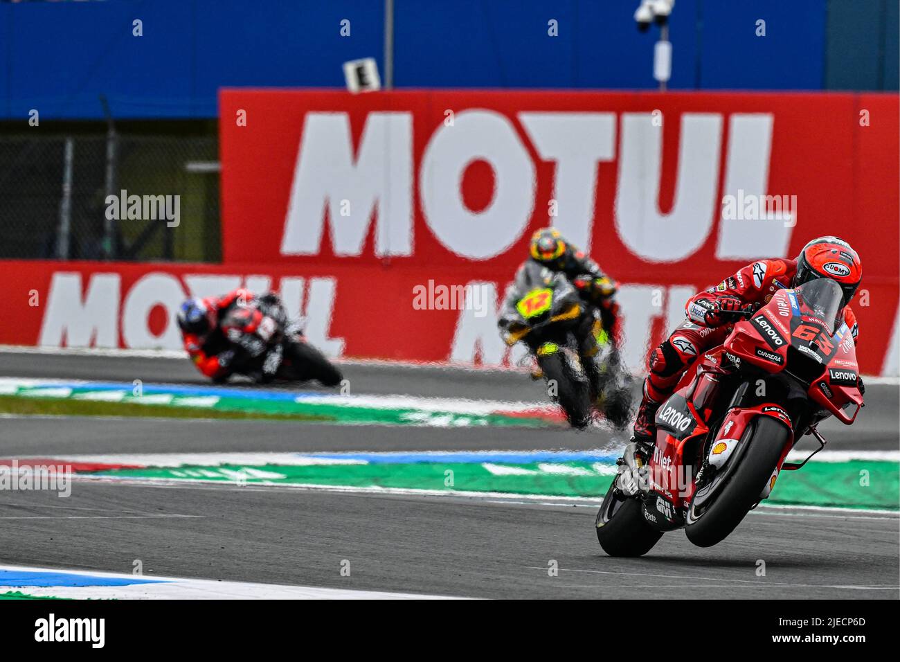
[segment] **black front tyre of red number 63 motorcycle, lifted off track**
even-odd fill
[[[747,448],[738,460],[725,485],[718,487],[713,502],[703,512],[697,512],[692,502],[688,509],[685,534],[698,547],[712,547],[725,540],[760,500],[766,481],[778,466],[781,453],[788,443],[788,428],[770,416],[760,416],[754,422],[751,436],[743,440]]]

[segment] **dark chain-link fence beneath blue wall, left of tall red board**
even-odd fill
[[[218,261],[213,136],[0,136],[0,258]]]

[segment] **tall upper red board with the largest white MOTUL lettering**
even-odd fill
[[[220,118],[229,263],[347,269],[403,317],[399,283],[505,283],[552,223],[626,284],[639,363],[698,287],[835,234],[862,361],[896,363],[896,95],[242,89]]]

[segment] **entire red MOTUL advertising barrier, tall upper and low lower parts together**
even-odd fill
[[[331,354],[506,365],[496,309],[548,223],[622,283],[626,360],[761,257],[863,258],[860,366],[896,374],[891,95],[220,95],[224,264],[5,262],[0,343],[175,348],[190,294],[278,289]],[[512,357],[515,359],[515,357]]]

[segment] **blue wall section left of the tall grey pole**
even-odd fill
[[[220,86],[343,86],[382,50],[377,0],[0,4],[0,112],[100,118],[103,94],[115,117],[214,117]]]

